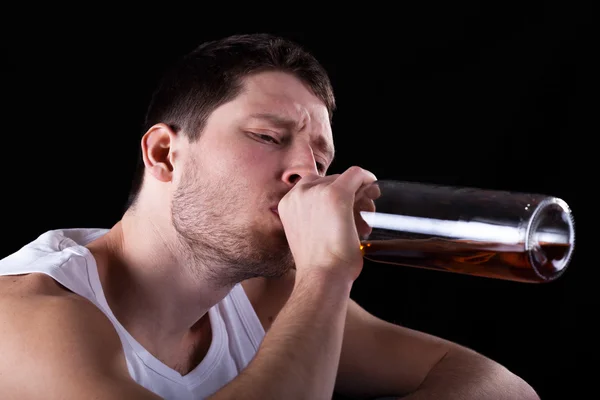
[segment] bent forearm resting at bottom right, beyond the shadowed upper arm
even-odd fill
[[[406,400],[539,400],[536,392],[502,365],[468,349],[451,350]]]

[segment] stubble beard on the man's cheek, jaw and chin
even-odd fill
[[[267,233],[245,223],[244,185],[203,181],[199,170],[194,163],[188,166],[171,208],[179,253],[190,272],[217,287],[231,287],[250,278],[280,277],[294,268],[283,230]]]

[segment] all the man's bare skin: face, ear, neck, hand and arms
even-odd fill
[[[329,115],[294,76],[248,77],[196,142],[157,124],[140,145],[138,204],[87,247],[115,316],[182,375],[210,346],[207,311],[243,282],[267,335],[213,399],[537,399],[494,361],[350,299],[372,207],[357,193],[376,178],[326,176]],[[110,322],[48,277],[0,278],[0,337],[9,399],[157,398],[128,376]]]

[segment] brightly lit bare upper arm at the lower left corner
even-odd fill
[[[15,399],[156,399],[128,375],[119,337],[87,300],[0,293],[0,392]]]

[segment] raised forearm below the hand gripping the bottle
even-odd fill
[[[331,399],[350,289],[297,276],[252,362],[212,399]]]

